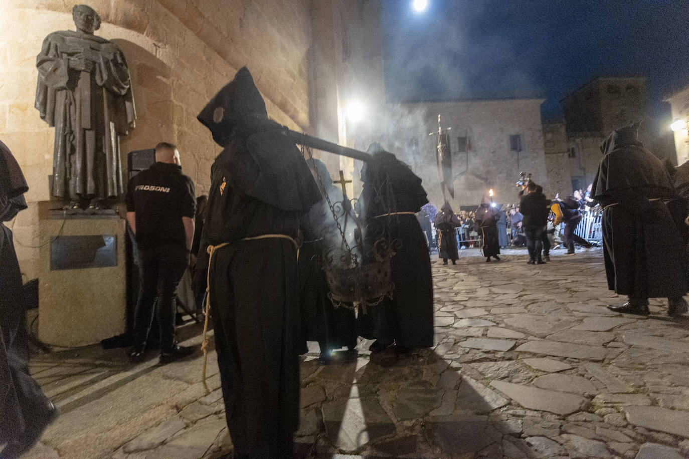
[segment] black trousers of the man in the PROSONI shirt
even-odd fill
[[[138,259],[141,290],[134,316],[134,347],[145,348],[156,312],[161,328],[161,350],[169,350],[174,345],[177,286],[189,264],[189,250],[184,246],[139,248]]]

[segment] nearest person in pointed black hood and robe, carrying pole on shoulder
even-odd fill
[[[239,457],[291,457],[299,423],[296,237],[300,216],[321,195],[299,149],[267,119],[246,67],[198,120],[225,147],[212,165],[202,239],[212,252],[207,302],[227,427]]]

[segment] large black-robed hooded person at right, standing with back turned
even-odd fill
[[[638,125],[613,131],[591,195],[603,206],[608,288],[628,295],[617,312],[648,314],[648,298],[667,297],[668,314],[686,312],[686,250],[677,214],[686,213],[663,163],[637,140]],[[684,208],[684,209],[682,209]]]

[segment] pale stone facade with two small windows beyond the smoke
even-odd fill
[[[418,142],[418,153],[402,156],[423,179],[431,203],[440,207],[443,202],[435,160],[435,136],[438,114],[443,128],[451,127],[451,151],[455,198],[453,209],[477,205],[489,189],[495,192],[500,204],[517,201],[515,182],[520,172],[533,174],[533,180],[550,193],[544,158],[544,138],[540,105],[543,99],[469,100],[447,103],[404,104],[413,111],[422,110],[423,131],[414,140],[399,139],[400,145]],[[404,135],[404,134],[402,134]],[[511,151],[510,136],[520,135],[522,151]],[[458,151],[458,137],[469,138],[469,151]],[[449,196],[448,196],[449,198]]]

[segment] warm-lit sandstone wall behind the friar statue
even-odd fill
[[[114,41],[130,65],[138,119],[122,139],[128,151],[165,140],[181,151],[183,171],[207,193],[220,148],[196,115],[236,70],[247,65],[269,116],[309,129],[311,17],[308,0],[87,0],[103,19],[99,36]],[[0,139],[30,184],[30,209],[10,223],[25,277],[37,275],[35,202],[48,200],[54,129],[34,109],[35,57],[43,38],[74,30],[72,5],[62,0],[0,3]],[[126,169],[125,169],[126,170]]]

